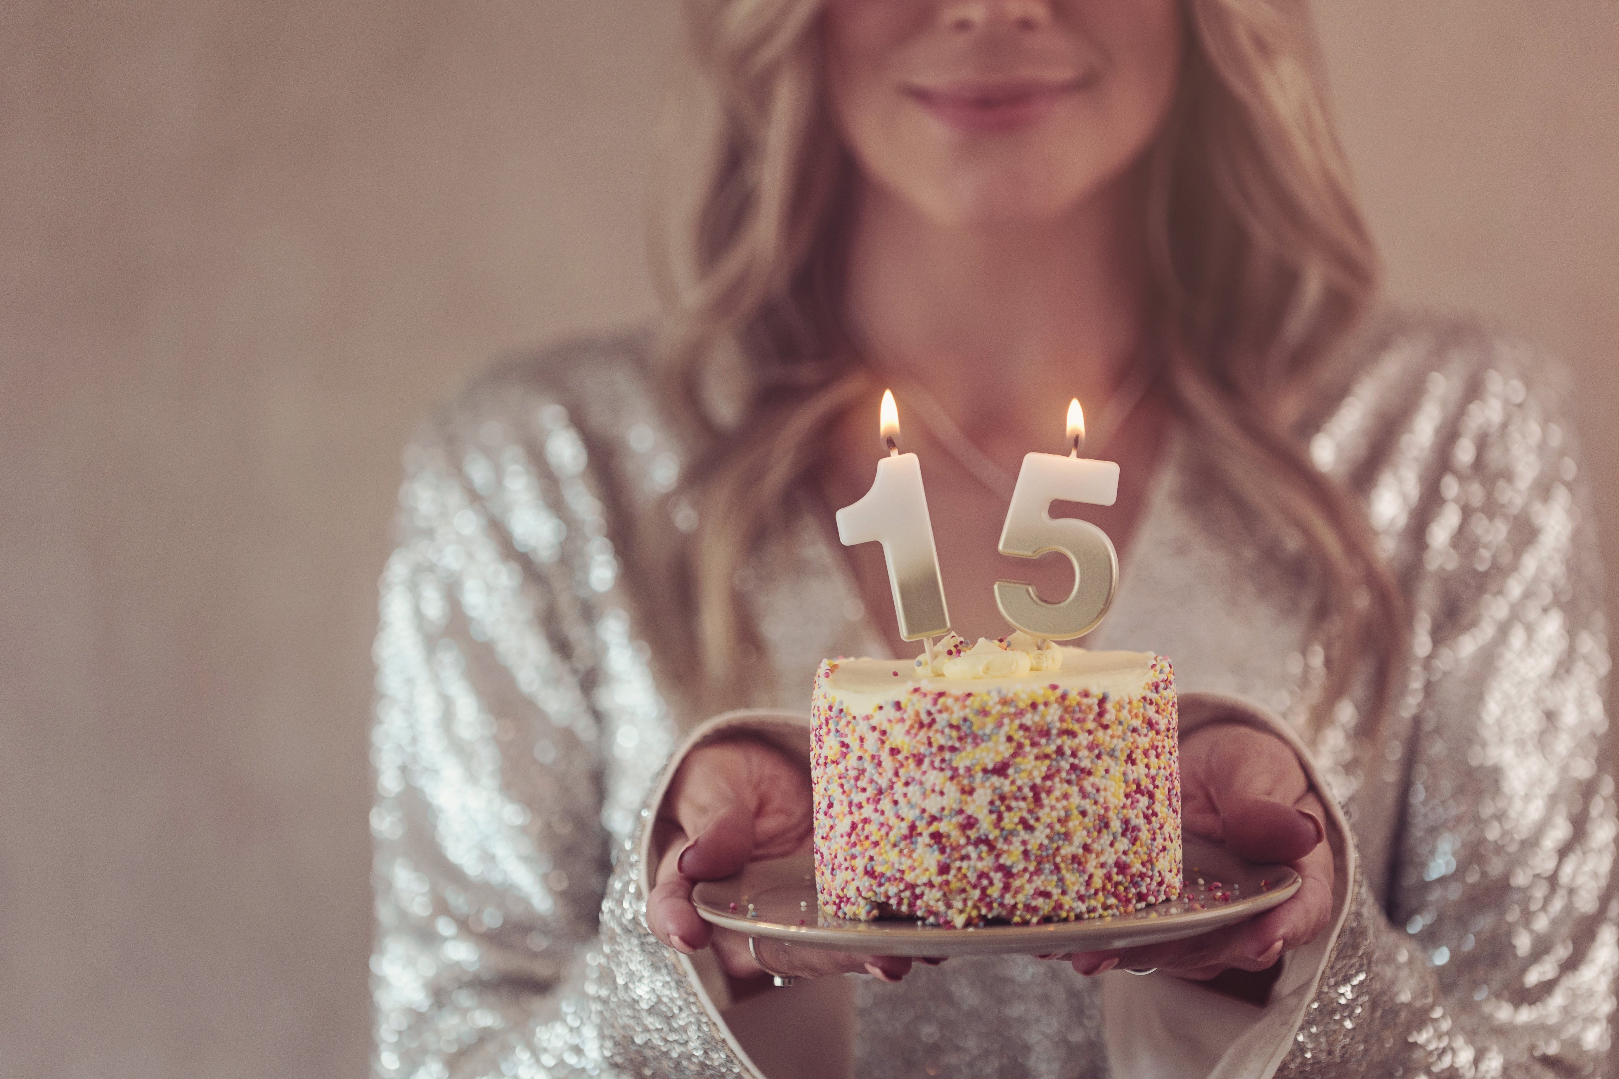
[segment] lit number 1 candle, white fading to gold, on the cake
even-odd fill
[[[837,539],[845,547],[873,540],[882,544],[900,639],[921,641],[945,633],[950,615],[944,607],[939,553],[933,545],[928,495],[921,487],[921,461],[915,453],[900,453],[900,416],[889,390],[882,391],[879,430],[889,456],[877,461],[871,490],[837,511]]]

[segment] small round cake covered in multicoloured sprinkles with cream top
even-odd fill
[[[811,713],[827,914],[1026,924],[1180,895],[1161,655],[949,636],[931,663],[824,662]]]

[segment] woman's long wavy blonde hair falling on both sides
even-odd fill
[[[686,281],[661,349],[706,456],[675,495],[695,534],[677,552],[667,615],[690,628],[686,671],[712,705],[746,699],[758,655],[738,569],[780,523],[874,380],[845,333],[843,260],[858,171],[822,91],[821,0],[688,0],[717,102]],[[1366,673],[1381,713],[1404,673],[1402,595],[1366,514],[1316,471],[1302,403],[1370,306],[1376,252],[1329,121],[1303,0],[1185,0],[1179,91],[1143,162],[1154,332],[1183,429],[1256,519],[1318,566],[1323,675],[1315,718]],[[674,280],[665,278],[665,280]],[[719,419],[706,379],[751,375]]]

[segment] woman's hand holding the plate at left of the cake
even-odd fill
[[[810,775],[774,746],[735,738],[688,754],[657,809],[654,838],[664,854],[646,899],[648,927],[686,954],[711,946],[735,979],[761,977],[748,938],[703,920],[691,886],[733,877],[748,862],[810,853],[811,814]],[[771,974],[787,977],[865,972],[897,982],[911,966],[899,956],[793,948],[764,937],[754,948]]]

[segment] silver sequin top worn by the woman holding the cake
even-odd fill
[[[646,932],[636,835],[677,733],[635,602],[649,513],[690,531],[649,338],[484,377],[406,450],[382,578],[371,814],[376,1076],[740,1076]],[[1289,1076],[1608,1074],[1619,971],[1608,641],[1569,388],[1522,343],[1384,319],[1307,430],[1412,597],[1405,696],[1313,738],[1362,854]],[[1174,448],[1091,647],[1303,721],[1313,578]],[[821,524],[738,581],[774,689],[869,649]],[[1106,975],[1115,977],[1115,975]],[[1101,1001],[1060,963],[954,959],[856,985],[865,1076],[1104,1076]]]

